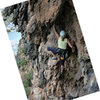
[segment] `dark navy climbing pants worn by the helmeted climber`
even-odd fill
[[[51,51],[54,54],[60,55],[60,65],[64,66],[65,51],[66,50],[63,50],[63,49],[60,49],[60,48],[55,48],[55,47],[48,47],[47,50]]]

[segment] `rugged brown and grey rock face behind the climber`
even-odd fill
[[[71,100],[99,90],[71,0],[29,0],[12,9],[13,22],[22,32],[18,57],[28,60],[26,70],[20,71],[33,70],[29,100]],[[46,51],[48,46],[57,47],[54,23],[57,32],[64,29],[75,46],[74,53],[68,47],[63,75],[59,59],[52,60]],[[24,54],[20,54],[21,48]]]

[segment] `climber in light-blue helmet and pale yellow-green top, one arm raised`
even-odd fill
[[[64,30],[60,31],[60,35],[57,33],[55,26],[53,26],[53,30],[58,39],[58,48],[48,47],[47,50],[53,55],[52,57],[53,60],[56,60],[57,54],[60,56],[60,66],[61,66],[61,73],[62,73],[64,69],[64,60],[65,60],[67,44],[72,48],[72,52],[74,52],[75,48],[71,44],[70,40],[66,38],[66,34]]]

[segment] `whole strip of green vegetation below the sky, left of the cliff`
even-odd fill
[[[27,70],[28,62],[29,60],[24,59],[25,52],[22,47],[19,48],[17,56],[20,58],[17,60],[18,68],[20,68],[23,72],[23,85],[26,91],[27,97],[30,95],[31,90],[30,87],[32,87],[32,77],[33,77],[33,70],[30,71]],[[26,72],[25,72],[26,71]]]

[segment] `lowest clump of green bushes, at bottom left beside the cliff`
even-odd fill
[[[25,80],[24,80],[23,83],[24,83],[24,88],[25,88],[27,96],[30,95],[29,87],[32,86],[32,82],[31,82],[31,80],[32,80],[32,73],[33,73],[33,70],[31,70],[29,73],[25,74],[25,76],[24,76]]]

